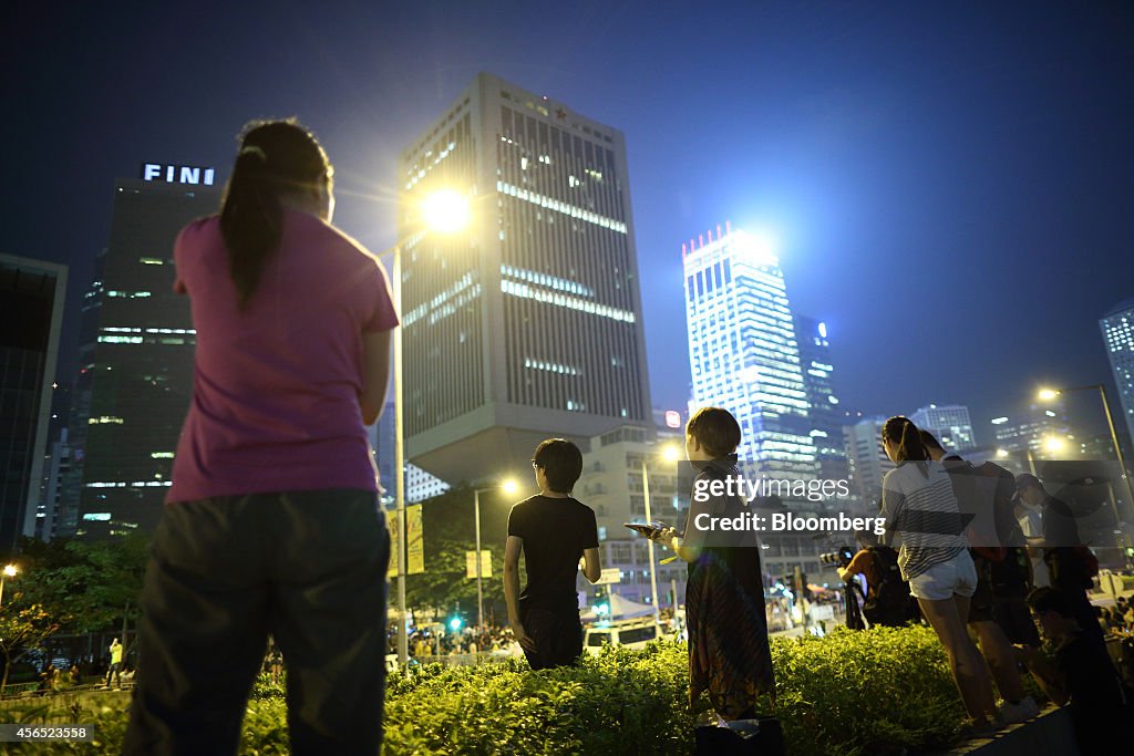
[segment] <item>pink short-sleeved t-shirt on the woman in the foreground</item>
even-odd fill
[[[167,503],[277,491],[378,490],[362,422],[362,334],[398,324],[378,258],[285,211],[280,248],[242,313],[213,215],[174,246],[197,331],[193,404]]]

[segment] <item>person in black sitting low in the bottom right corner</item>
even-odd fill
[[[1056,646],[1055,666],[1032,646],[1016,646],[1017,659],[1051,700],[1070,705],[1080,750],[1108,753],[1118,737],[1123,707],[1129,705],[1118,670],[1105,648],[1084,637],[1066,594],[1036,588],[1027,595],[1027,604]]]

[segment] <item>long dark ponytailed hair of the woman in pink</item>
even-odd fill
[[[242,312],[280,246],[280,195],[316,186],[330,176],[327,153],[294,119],[246,127],[220,211],[229,275]]]

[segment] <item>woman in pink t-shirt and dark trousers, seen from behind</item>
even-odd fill
[[[271,635],[295,754],[381,745],[389,535],[365,425],[398,318],[330,224],[332,169],[295,121],[245,130],[219,215],[177,237],[193,401],[153,536],[124,753],[236,753]]]

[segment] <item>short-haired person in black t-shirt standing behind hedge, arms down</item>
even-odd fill
[[[532,458],[540,493],[511,508],[503,555],[508,623],[533,670],[574,664],[583,653],[575,576],[599,579],[599,528],[594,510],[572,498],[583,455],[570,441],[549,439]],[[527,586],[519,592],[519,555]]]

